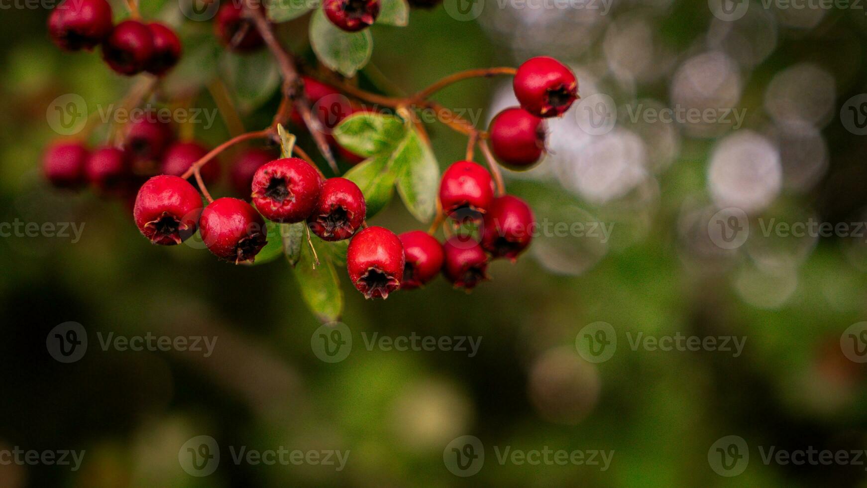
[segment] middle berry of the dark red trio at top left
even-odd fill
[[[102,42],[102,59],[120,75],[132,76],[144,71],[154,52],[151,29],[137,20],[115,25]]]

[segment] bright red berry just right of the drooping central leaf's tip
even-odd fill
[[[478,220],[492,199],[491,173],[473,161],[458,161],[442,174],[440,205],[450,217]]]

